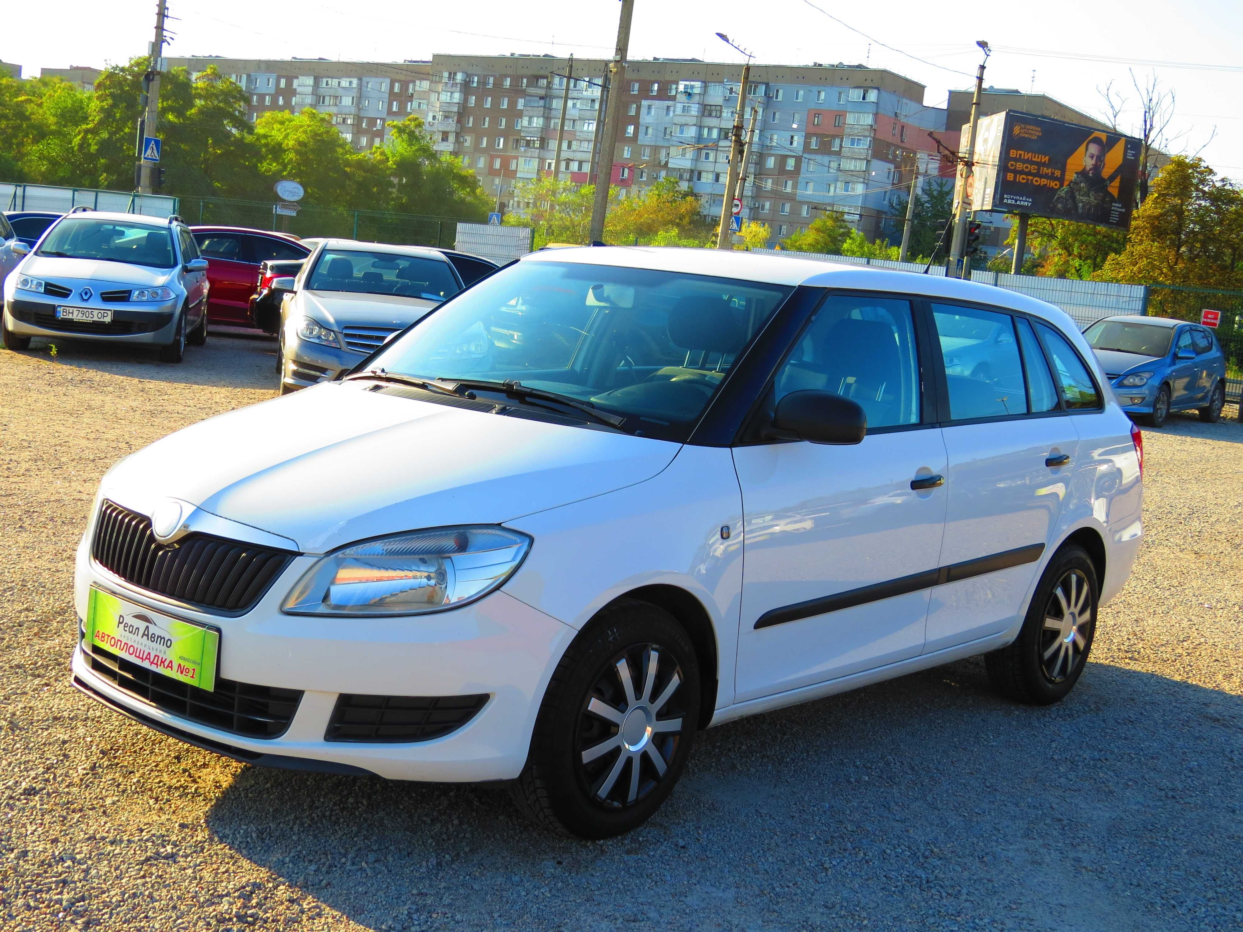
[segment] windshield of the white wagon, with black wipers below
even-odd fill
[[[645,268],[518,262],[372,362],[415,378],[521,381],[684,440],[793,288]]]

